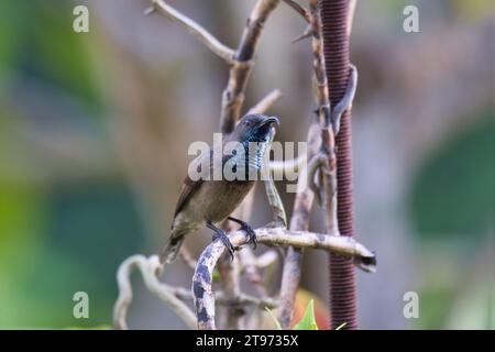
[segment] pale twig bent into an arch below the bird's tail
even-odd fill
[[[178,299],[169,287],[162,284],[157,276],[162,274],[163,266],[158,256],[132,255],[119,266],[117,282],[119,285],[119,298],[113,308],[113,324],[117,329],[128,329],[125,316],[132,300],[132,286],[130,283],[131,273],[138,268],[144,279],[147,289],[164,301],[189,329],[196,329],[196,316],[180,299]]]

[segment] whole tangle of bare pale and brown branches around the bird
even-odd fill
[[[324,57],[321,42],[321,20],[317,9],[317,0],[309,0],[309,10],[294,0],[283,0],[296,10],[309,24],[305,34],[299,37],[311,36],[311,48],[314,53],[314,84],[315,99],[318,106],[315,113],[316,121],[308,131],[308,155],[302,155],[294,161],[284,163],[271,162],[268,170],[284,169],[297,166],[299,170],[299,185],[306,185],[302,191],[296,195],[293,217],[287,229],[287,219],[284,205],[273,179],[265,182],[265,191],[274,215],[276,227],[264,227],[256,229],[257,242],[267,246],[287,248],[284,271],[282,276],[280,299],[274,299],[266,293],[258,270],[272,265],[277,255],[274,251],[265,252],[256,257],[251,249],[246,246],[248,237],[244,231],[230,231],[230,242],[238,249],[240,261],[233,263],[221,262],[226,248],[220,241],[213,241],[201,253],[198,261],[183,248],[182,257],[184,262],[195,270],[193,287],[188,290],[183,287],[173,287],[160,280],[164,266],[160,264],[156,255],[145,257],[133,255],[125,260],[118,271],[119,298],[114,306],[114,326],[127,329],[125,316],[132,300],[132,287],[130,275],[132,271],[139,270],[150,292],[164,301],[184,322],[190,328],[217,329],[216,305],[227,307],[227,320],[230,327],[243,328],[241,317],[245,306],[257,308],[278,307],[278,319],[283,328],[288,328],[294,311],[294,300],[299,285],[301,252],[304,249],[324,250],[338,255],[353,258],[353,263],[365,272],[374,272],[376,257],[373,252],[349,237],[340,235],[337,224],[337,173],[334,136],[339,132],[340,116],[350,108],[349,99],[342,99],[333,109],[329,99],[328,81],[324,70]],[[230,133],[241,116],[244,102],[245,89],[251,72],[257,44],[270,14],[275,10],[280,0],[257,0],[237,50],[230,48],[217,40],[201,25],[187,18],[163,0],[151,0],[152,6],[145,11],[146,14],[157,12],[173,22],[179,24],[188,33],[206,45],[213,54],[221,57],[230,67],[229,80],[222,94],[221,101],[221,131]],[[356,79],[355,69],[351,70],[350,81]],[[355,88],[355,85],[354,85]],[[350,91],[350,101],[355,92]],[[280,98],[278,89],[271,91],[258,103],[249,109],[249,113],[264,113]],[[273,139],[273,135],[272,135]],[[304,169],[305,161],[309,164]],[[309,182],[304,177],[309,178]],[[318,178],[318,183],[315,180]],[[298,185],[298,186],[299,186]],[[299,188],[300,189],[300,188]],[[309,232],[309,212],[314,197],[326,208],[326,234]],[[240,211],[250,213],[252,208],[253,193],[251,193]],[[245,216],[248,218],[248,216]],[[223,260],[223,258],[222,258]],[[222,290],[213,293],[213,271],[219,267],[222,276]],[[255,288],[257,297],[241,292],[238,274],[244,273]],[[186,304],[194,301],[195,312]],[[237,312],[237,314],[235,314]]]

